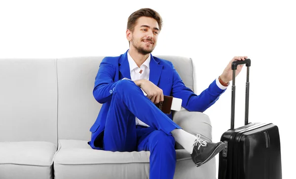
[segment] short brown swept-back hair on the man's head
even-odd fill
[[[140,18],[140,17],[151,17],[153,19],[155,19],[158,23],[158,27],[159,27],[159,32],[161,31],[161,27],[162,27],[162,18],[161,16],[159,15],[158,12],[156,12],[155,10],[153,9],[150,9],[150,8],[142,8],[142,9],[139,9],[135,12],[133,12],[129,17],[128,17],[128,20],[127,20],[127,29],[130,30],[131,32],[134,32],[135,30],[135,25],[137,23],[137,20]],[[129,44],[130,44],[130,41],[128,41]]]

